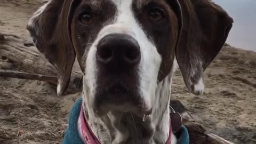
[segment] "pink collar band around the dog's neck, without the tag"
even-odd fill
[[[93,134],[93,132],[91,131],[89,125],[87,124],[84,118],[83,107],[81,108],[79,117],[81,121],[81,133],[83,135],[83,139],[86,142],[86,144],[100,144],[99,140]],[[171,135],[172,135],[172,125],[171,125],[171,118],[170,118],[170,132],[169,132],[169,137],[165,142],[165,144],[171,144]]]

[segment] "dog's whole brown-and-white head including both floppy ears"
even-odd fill
[[[174,57],[188,90],[203,92],[203,71],[232,23],[210,0],[52,0],[27,28],[58,70],[59,95],[77,57],[86,99],[95,108],[146,113]]]

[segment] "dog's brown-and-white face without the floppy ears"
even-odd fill
[[[178,19],[168,4],[82,1],[71,21],[72,42],[92,107],[104,113],[150,113],[161,63],[173,60],[179,33]]]

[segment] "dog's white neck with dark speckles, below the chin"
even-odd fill
[[[171,74],[155,90],[155,103],[150,118],[142,119],[132,113],[111,111],[102,117],[95,116],[86,100],[84,114],[90,129],[102,144],[107,143],[165,143],[170,130]],[[85,94],[85,92],[83,92]],[[83,95],[85,98],[85,95]]]

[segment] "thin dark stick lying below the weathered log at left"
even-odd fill
[[[57,76],[46,76],[46,75],[41,75],[41,74],[21,73],[18,71],[0,70],[0,76],[1,77],[12,77],[12,78],[44,81],[44,82],[49,82],[52,85],[57,85],[57,83],[58,83]]]

